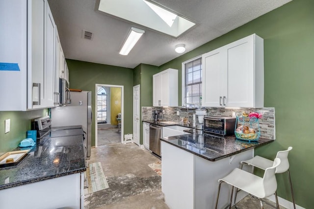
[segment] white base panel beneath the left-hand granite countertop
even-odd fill
[[[84,173],[0,190],[1,209],[83,209]]]

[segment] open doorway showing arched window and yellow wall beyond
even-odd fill
[[[123,86],[96,84],[95,147],[123,143]]]

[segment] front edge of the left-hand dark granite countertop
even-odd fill
[[[80,168],[80,169],[76,169],[76,170],[72,170],[72,171],[65,172],[65,173],[52,175],[52,176],[44,176],[44,177],[39,177],[39,178],[35,178],[35,179],[29,179],[29,180],[22,181],[22,182],[5,184],[5,185],[0,186],[0,190],[6,189],[6,188],[12,188],[12,187],[15,187],[15,186],[23,186],[23,185],[27,185],[27,184],[31,184],[31,183],[35,183],[35,182],[40,182],[40,181],[45,181],[45,180],[49,180],[49,179],[54,179],[54,178],[58,178],[58,177],[61,177],[61,176],[67,176],[67,175],[80,173],[80,172],[84,172],[84,171],[86,171],[86,167],[83,167],[83,168]]]

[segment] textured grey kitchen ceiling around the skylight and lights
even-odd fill
[[[201,46],[291,0],[155,0],[180,16],[197,23],[174,38],[95,10],[96,0],[49,0],[67,59],[135,68],[140,63],[160,66]],[[123,6],[123,5],[122,5]],[[145,29],[129,55],[119,54],[131,26]],[[93,39],[82,39],[82,30],[93,32]]]

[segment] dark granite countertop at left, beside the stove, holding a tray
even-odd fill
[[[16,150],[21,149],[27,148]],[[44,138],[37,140],[20,163],[0,168],[0,190],[85,170],[82,136]]]

